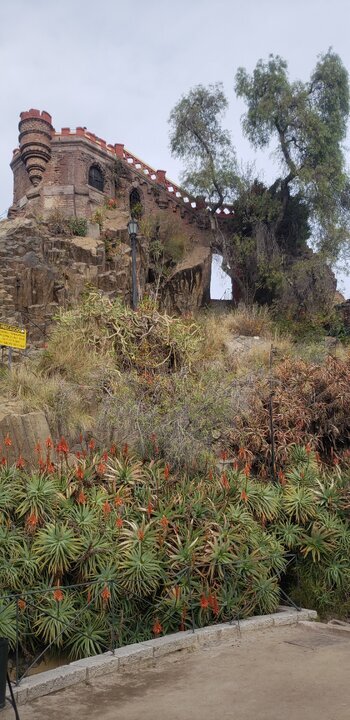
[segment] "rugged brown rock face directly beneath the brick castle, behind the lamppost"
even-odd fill
[[[86,237],[67,234],[67,221],[17,217],[0,223],[0,321],[27,327],[29,344],[45,342],[59,307],[76,302],[87,287],[109,297],[131,298],[131,251],[128,213],[107,211],[103,236],[97,223],[88,223]],[[137,278],[139,296],[152,293],[149,243],[139,237]],[[190,247],[174,266],[162,288],[169,312],[194,311],[207,302],[211,251]]]

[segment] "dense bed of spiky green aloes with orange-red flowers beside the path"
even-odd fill
[[[308,593],[321,612],[346,611],[348,476],[322,470],[308,448],[291,455],[281,485],[254,479],[246,450],[232,469],[190,475],[127,448],[101,457],[84,446],[65,474],[50,466],[43,477],[58,492],[40,522],[29,522],[31,499],[26,516],[16,502],[4,510],[0,632],[13,646],[13,592],[24,653],[52,644],[73,659],[103,652],[111,632],[122,644],[151,637],[157,623],[188,627],[191,611],[197,626],[274,612],[282,577],[295,599]],[[4,467],[0,481],[8,477]],[[30,490],[30,478],[21,471],[14,487]]]

